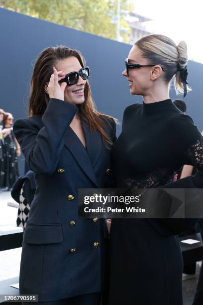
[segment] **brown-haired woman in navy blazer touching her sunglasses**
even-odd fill
[[[106,289],[104,220],[78,217],[78,189],[102,187],[115,141],[115,122],[94,106],[82,54],[43,50],[34,65],[29,118],[14,134],[36,192],[24,231],[20,294],[45,304],[99,305]]]

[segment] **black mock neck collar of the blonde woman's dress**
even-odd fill
[[[143,101],[143,111],[147,114],[173,112],[175,110],[177,110],[177,108],[171,99],[153,103],[145,103]]]

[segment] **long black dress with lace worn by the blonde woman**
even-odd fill
[[[168,184],[203,187],[203,138],[170,99],[124,111],[112,150],[117,187],[152,188],[173,182],[184,164],[194,177]],[[171,186],[171,187],[172,187]],[[110,229],[109,305],[181,305],[183,262],[176,234],[194,219],[113,219]]]

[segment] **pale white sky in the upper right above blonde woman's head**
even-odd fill
[[[134,0],[134,11],[153,19],[145,24],[155,34],[185,40],[189,59],[203,63],[203,2],[201,0]]]

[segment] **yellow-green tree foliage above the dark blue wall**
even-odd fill
[[[116,38],[115,21],[117,0],[0,0],[0,7],[14,10],[36,18],[66,25],[78,30]],[[121,10],[132,10],[132,0],[120,0]],[[121,14],[120,33],[128,41],[130,28]]]

